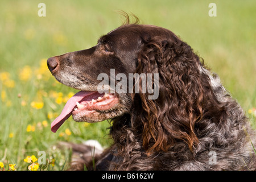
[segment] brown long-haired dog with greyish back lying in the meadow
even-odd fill
[[[218,75],[174,32],[126,19],[96,46],[47,60],[57,81],[81,90],[52,122],[53,132],[71,115],[112,122],[114,144],[96,152],[93,168],[85,149],[71,144],[81,154],[71,169],[255,170],[255,131]],[[152,99],[144,88],[158,94]]]

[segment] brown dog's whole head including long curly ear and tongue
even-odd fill
[[[47,64],[56,80],[81,90],[52,122],[53,132],[71,114],[78,122],[99,122],[133,112],[144,148],[167,150],[175,139],[192,147],[195,123],[213,97],[199,56],[156,26],[124,24],[96,46],[51,57]]]

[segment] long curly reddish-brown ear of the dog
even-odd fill
[[[159,97],[150,100],[150,93],[140,92],[133,98],[141,102],[137,105],[135,127],[141,129],[143,147],[149,154],[167,151],[181,140],[192,150],[198,142],[194,126],[203,116],[205,86],[202,80],[207,79],[202,78],[201,66],[191,47],[176,37],[175,40],[158,37],[144,40],[135,72],[158,74],[155,85]]]

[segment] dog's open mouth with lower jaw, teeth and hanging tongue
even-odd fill
[[[59,127],[72,115],[77,122],[100,122],[111,113],[119,103],[117,93],[98,93],[80,91],[71,97],[65,104],[59,117],[51,123],[51,130],[55,133]],[[103,115],[102,117],[100,117]]]

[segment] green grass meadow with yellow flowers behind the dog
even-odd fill
[[[55,81],[46,59],[94,46],[99,36],[122,24],[117,10],[137,15],[142,23],[168,28],[185,40],[218,73],[256,128],[255,1],[214,1],[217,17],[209,17],[211,1],[46,1],[46,17],[38,16],[40,1],[0,2],[0,162],[27,170],[27,156],[61,170],[69,151],[60,155],[58,141],[82,142],[108,138],[108,121],[75,123],[72,118],[52,133],[50,124],[64,101],[77,90]],[[1,169],[1,168],[0,168]]]

